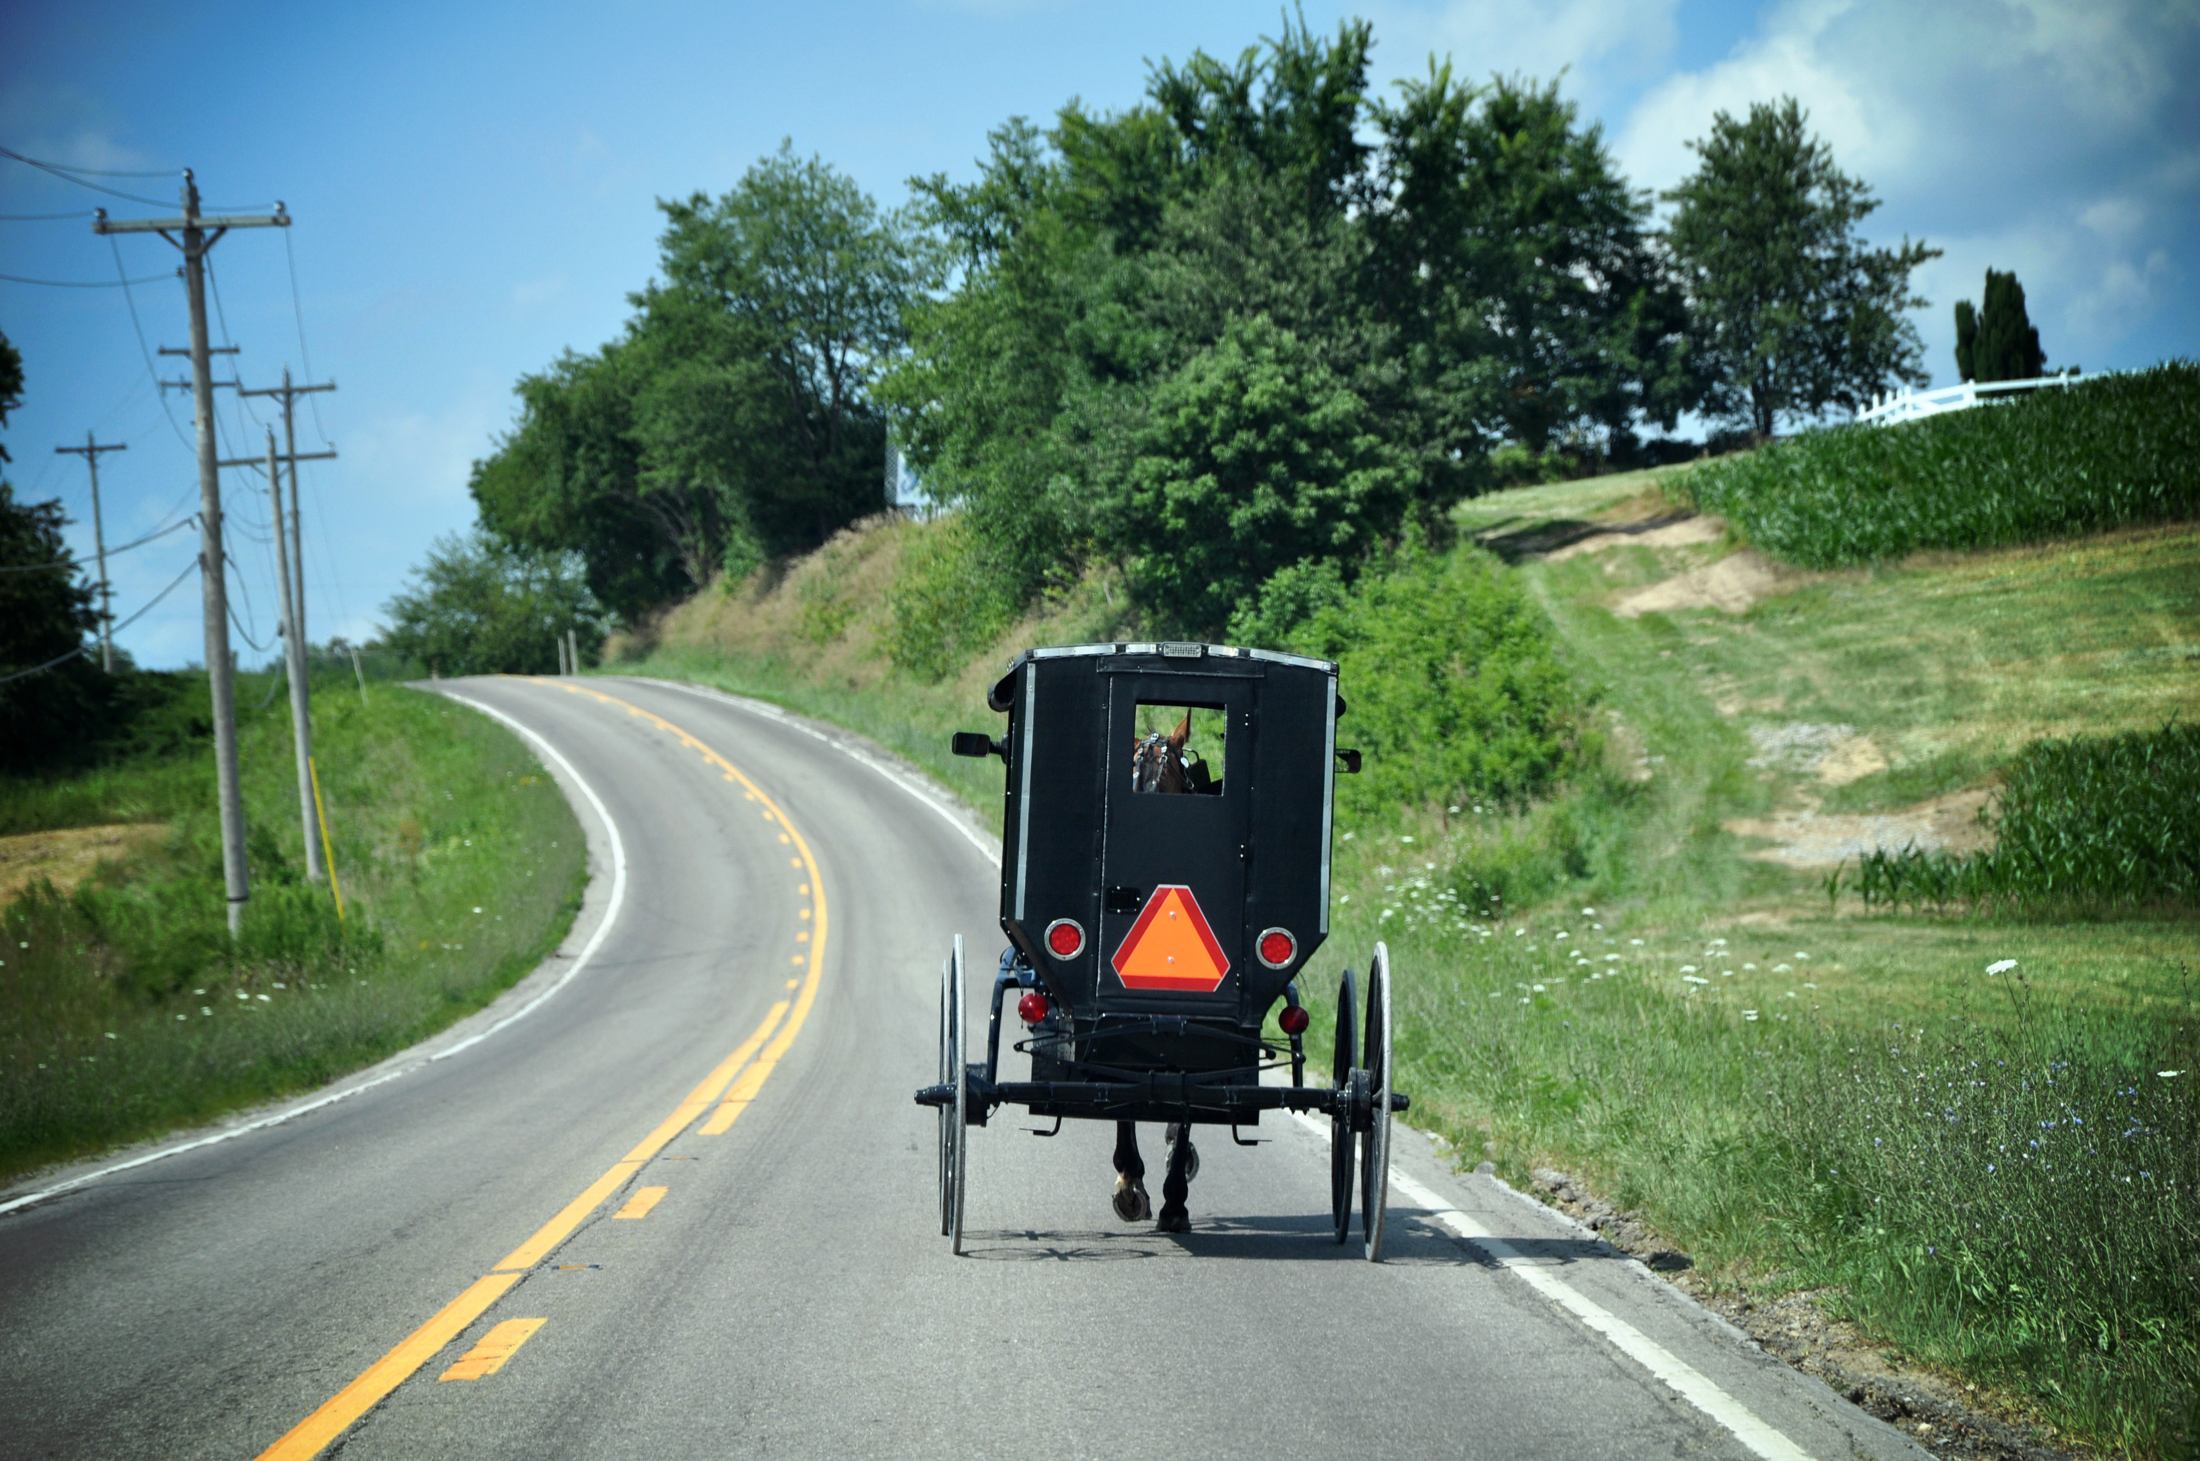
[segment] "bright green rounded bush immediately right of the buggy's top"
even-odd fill
[[[1580,697],[1551,623],[1481,552],[1408,548],[1395,572],[1371,572],[1318,609],[1296,647],[1342,664],[1351,717],[1338,739],[1366,753],[1366,770],[1338,781],[1353,816],[1461,799],[1525,805],[1573,761]]]

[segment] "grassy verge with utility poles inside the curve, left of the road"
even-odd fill
[[[240,675],[253,898],[231,946],[205,678],[174,680],[132,750],[0,783],[0,1175],[370,1065],[488,1003],[579,907],[579,823],[508,730],[332,675],[312,717],[339,922],[304,882],[286,695]]]

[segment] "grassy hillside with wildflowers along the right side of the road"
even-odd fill
[[[1465,1160],[1564,1166],[1714,1285],[1822,1289],[1912,1362],[2176,1450],[2200,1375],[2193,911],[1866,915],[1826,874],[1874,841],[1976,847],[2042,737],[2200,711],[2200,530],[1804,572],[1703,519],[1659,530],[1687,506],[1672,475],[1459,513],[1555,629],[1580,764],[1527,805],[1344,819],[1322,966],[1390,942],[1417,1122]],[[931,530],[702,594],[636,669],[849,724],[997,814],[999,770],[944,733],[990,724],[1016,645],[1129,629],[1096,579],[944,682],[902,675],[895,559]]]

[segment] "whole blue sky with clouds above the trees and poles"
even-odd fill
[[[1954,378],[1949,308],[2015,268],[2050,365],[2196,352],[2200,2],[2097,0],[1384,0],[1307,4],[1318,29],[1375,22],[1377,81],[1432,53],[1467,75],[1551,77],[1602,121],[1628,176],[1668,187],[1714,110],[1797,95],[1837,161],[1885,200],[1868,233],[1947,251],[1918,273],[1927,367]],[[271,229],[216,249],[246,385],[304,378],[308,631],[361,638],[442,532],[471,521],[469,462],[510,422],[510,385],[609,339],[656,262],[660,196],[722,191],[792,139],[882,202],[911,174],[968,176],[986,130],[1069,97],[1129,106],[1146,59],[1234,55],[1278,26],[1261,4],[871,0],[757,4],[73,4],[0,11],[0,145],[77,167],[194,167],[211,205],[282,198]],[[2178,77],[2185,77],[2182,81]],[[112,178],[172,198],[172,178]],[[0,213],[145,207],[0,161]],[[167,275],[158,238],[121,240],[130,277]],[[0,273],[112,279],[86,218],[0,222]],[[183,288],[134,290],[147,345],[185,343]],[[299,339],[304,321],[304,343]],[[189,403],[163,414],[119,288],[0,282],[24,354],[9,477],[55,497],[90,550],[81,458],[101,462],[108,541],[196,502]],[[216,330],[220,334],[220,326]],[[180,374],[180,361],[156,361]],[[266,403],[220,394],[224,455],[260,451]],[[224,473],[240,614],[268,642],[264,488]],[[176,535],[114,561],[130,614],[191,559]],[[143,664],[194,662],[198,594],[121,636]],[[244,649],[251,662],[255,653]]]

